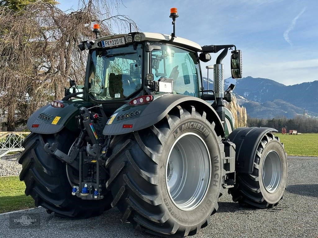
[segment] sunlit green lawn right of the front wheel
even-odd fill
[[[318,156],[318,134],[281,135],[287,155]]]

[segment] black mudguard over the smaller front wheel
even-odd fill
[[[228,139],[235,144],[235,171],[251,174],[256,149],[266,133],[276,129],[268,127],[240,127]]]

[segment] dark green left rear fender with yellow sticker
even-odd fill
[[[78,115],[79,109],[92,104],[81,100],[61,102],[64,104],[63,108],[55,108],[48,104],[35,111],[28,119],[27,128],[38,134],[57,133],[64,127],[71,131],[78,130],[75,117]],[[41,114],[46,118],[41,118]],[[38,125],[38,127],[32,127],[32,125]]]

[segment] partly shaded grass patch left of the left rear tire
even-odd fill
[[[31,196],[25,196],[24,182],[18,176],[0,177],[0,213],[34,208]]]

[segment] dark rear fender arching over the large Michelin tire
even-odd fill
[[[215,122],[217,135],[224,136],[223,124],[209,103],[197,97],[180,94],[155,96],[153,101],[141,105],[123,105],[110,117],[103,134],[121,135],[145,129],[162,120],[175,106],[186,104],[194,106],[196,110],[204,110],[207,119]],[[132,125],[132,128],[124,128],[124,125]]]

